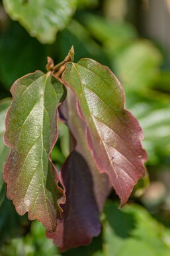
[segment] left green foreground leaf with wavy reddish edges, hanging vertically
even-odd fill
[[[65,98],[65,88],[50,72],[36,71],[17,80],[11,93],[4,136],[11,148],[3,173],[7,197],[20,215],[28,211],[29,219],[38,219],[48,231],[55,231],[65,197],[50,154],[58,136],[57,107]]]

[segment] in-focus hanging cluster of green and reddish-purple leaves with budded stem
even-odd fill
[[[124,205],[147,160],[142,129],[125,109],[116,76],[91,59],[73,63],[73,54],[72,47],[56,66],[48,58],[46,74],[13,84],[4,134],[11,148],[3,170],[7,197],[20,215],[42,221],[61,251],[99,235],[110,189]],[[51,152],[59,118],[69,127],[71,150],[58,176]]]

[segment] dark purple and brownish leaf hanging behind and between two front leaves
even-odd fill
[[[99,173],[89,152],[85,140],[85,122],[79,117],[76,104],[73,92],[67,88],[67,98],[60,106],[60,112],[71,131],[71,142],[76,140],[77,145],[74,150],[71,144],[73,152],[61,171],[67,197],[62,206],[64,213],[58,221],[56,233],[48,234],[61,251],[86,245],[93,236],[99,235],[99,214],[110,192],[106,174]]]

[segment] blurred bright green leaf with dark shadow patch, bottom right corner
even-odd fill
[[[108,201],[103,238],[105,256],[169,255],[169,230],[140,205],[126,205],[120,210]]]

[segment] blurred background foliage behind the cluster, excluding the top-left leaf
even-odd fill
[[[168,256],[170,47],[167,47],[167,41],[170,43],[170,1],[72,2],[72,17],[58,31],[57,37],[53,35],[56,37],[53,43],[42,44],[18,21],[9,19],[0,1],[0,255]],[[63,15],[67,16],[67,7]],[[160,31],[155,28],[154,33],[154,25],[161,23],[163,26],[163,15],[167,17],[167,27]],[[9,150],[3,144],[3,132],[13,82],[28,72],[45,71],[47,56],[59,63],[71,45],[75,48],[75,62],[82,57],[95,59],[109,66],[122,83],[126,107],[138,118],[144,130],[148,175],[138,182],[128,204],[122,209],[118,209],[114,192],[110,194],[101,216],[103,231],[91,245],[61,254],[56,245],[46,239],[42,224],[37,221],[30,223],[26,215],[19,216],[13,203],[5,198],[2,171]],[[59,140],[52,152],[58,170],[68,154],[69,132],[64,124],[60,124]]]

